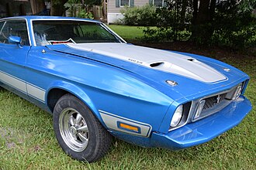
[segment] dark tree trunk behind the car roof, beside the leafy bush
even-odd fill
[[[54,16],[62,16],[64,15],[65,8],[64,4],[67,3],[68,0],[50,0],[51,8],[50,15]]]

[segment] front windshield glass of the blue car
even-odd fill
[[[60,43],[123,42],[99,22],[78,20],[33,21],[36,46]]]

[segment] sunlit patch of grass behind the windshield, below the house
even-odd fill
[[[119,36],[125,39],[127,42],[133,42],[140,40],[143,36],[143,26],[118,26],[109,25],[109,28],[116,32]]]

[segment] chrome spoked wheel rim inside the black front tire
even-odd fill
[[[65,144],[73,151],[84,151],[88,146],[88,126],[83,117],[74,108],[62,110],[59,117],[59,129]]]

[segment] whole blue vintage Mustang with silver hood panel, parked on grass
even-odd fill
[[[127,44],[102,22],[0,20],[0,85],[53,114],[78,160],[102,158],[112,136],[172,150],[209,141],[251,110],[248,80],[215,59]]]

